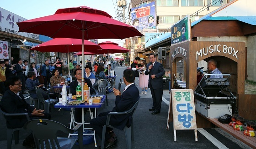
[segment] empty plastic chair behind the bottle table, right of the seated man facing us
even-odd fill
[[[95,84],[92,85],[93,88],[96,89],[97,94],[96,95],[106,95],[106,103],[108,105],[107,101],[107,88],[109,87],[109,83],[106,79],[99,79],[95,82]]]

